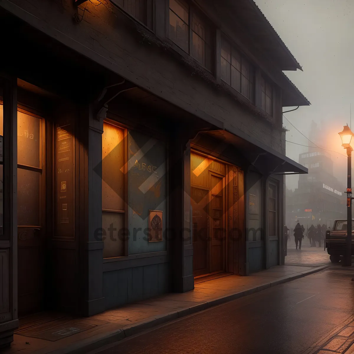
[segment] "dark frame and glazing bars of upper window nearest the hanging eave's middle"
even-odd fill
[[[222,73],[221,73],[221,61],[222,58],[225,59],[222,56],[222,44],[224,42],[227,42],[227,44],[230,46],[230,84],[228,82],[226,82],[225,80],[223,80],[222,78]],[[240,57],[240,70],[238,70],[233,64],[232,64],[232,53],[237,52],[239,57]],[[219,79],[224,82],[224,84],[226,84],[230,89],[232,89],[234,92],[237,92],[238,94],[240,94],[243,98],[245,98],[248,102],[250,102],[253,106],[256,107],[256,65],[253,64],[253,62],[242,52],[242,50],[239,49],[239,47],[237,45],[234,44],[234,42],[232,40],[229,39],[229,37],[227,35],[225,35],[224,33],[221,33],[220,36],[220,75],[219,75]],[[227,59],[225,59],[227,61]],[[249,71],[250,71],[250,78],[246,78],[246,76],[242,73],[242,62],[245,61],[247,63],[247,65],[249,65]],[[235,68],[239,73],[240,73],[240,91],[237,90],[235,87],[232,86],[232,68]],[[242,92],[242,76],[245,77],[247,79],[247,81],[249,82],[249,96],[247,97],[245,96],[245,94]],[[251,81],[251,78],[253,79]],[[251,91],[251,86],[252,86],[252,91]]]

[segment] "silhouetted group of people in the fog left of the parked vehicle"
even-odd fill
[[[322,226],[320,224],[317,224],[317,227],[315,227],[313,224],[307,229],[306,236],[310,241],[311,247],[316,247],[316,242],[318,243],[318,247],[321,247],[322,241],[325,241],[326,237],[326,225],[323,224]],[[286,241],[285,243],[287,244],[287,240],[290,240],[290,235],[288,235],[288,231],[290,231],[286,225],[284,226],[284,240]],[[296,249],[299,247],[299,250],[301,250],[301,243],[302,239],[304,238],[304,233],[305,233],[305,228],[304,225],[300,225],[299,222],[297,222],[295,228],[294,228],[294,238],[295,238],[295,245]]]

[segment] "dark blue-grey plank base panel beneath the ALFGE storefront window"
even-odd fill
[[[105,309],[141,301],[170,291],[169,263],[143,265],[103,273]]]

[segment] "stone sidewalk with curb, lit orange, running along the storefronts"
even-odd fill
[[[279,265],[242,277],[225,275],[202,281],[185,293],[127,304],[89,318],[42,313],[20,320],[14,342],[4,353],[87,353],[142,330],[202,311],[329,267]]]

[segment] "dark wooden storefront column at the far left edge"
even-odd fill
[[[0,78],[1,82],[1,78]],[[13,341],[17,313],[17,79],[3,82],[3,230],[0,236],[0,348]],[[2,177],[1,177],[2,179]]]

